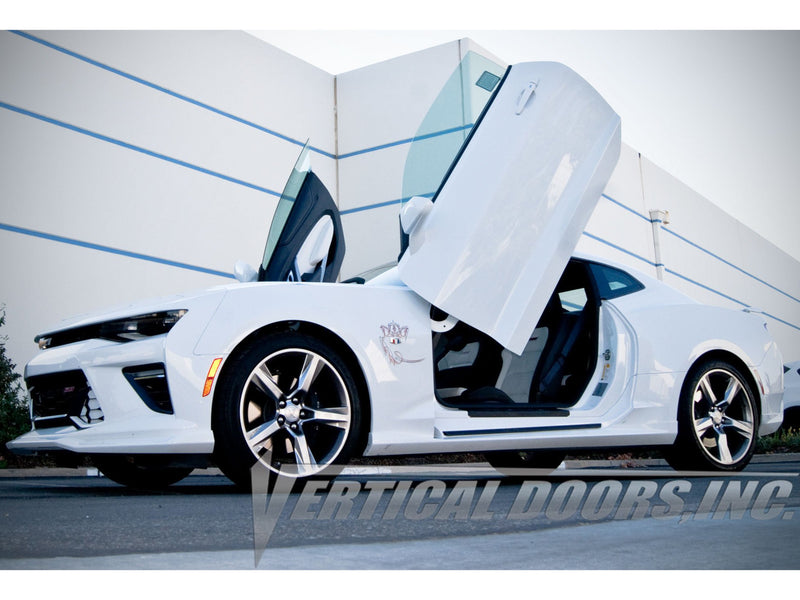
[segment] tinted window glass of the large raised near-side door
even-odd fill
[[[492,97],[505,67],[467,52],[422,121],[406,157],[401,198],[432,198]]]

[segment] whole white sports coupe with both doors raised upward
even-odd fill
[[[34,429],[9,447],[90,455],[139,486],[208,464],[246,486],[256,461],[297,477],[359,455],[550,468],[631,446],[742,469],[783,413],[763,319],[573,256],[620,150],[583,79],[526,63],[475,86],[485,103],[446,168],[435,144],[409,151],[437,187],[404,203],[396,267],[335,282],[341,224],[304,151],[258,271],[37,337]]]

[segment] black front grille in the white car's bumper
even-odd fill
[[[31,396],[35,429],[73,425],[78,428],[103,420],[103,411],[83,371],[35,375],[25,380]]]

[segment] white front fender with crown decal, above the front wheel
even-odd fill
[[[342,307],[320,311],[320,306]],[[346,307],[346,309],[345,309]],[[296,319],[329,329],[350,347],[370,393],[372,431],[392,439],[430,439],[433,376],[429,306],[403,287],[342,284],[251,284],[232,287],[194,352],[224,356],[247,333]],[[397,349],[411,362],[393,364],[380,342],[381,326],[408,327]],[[223,364],[223,369],[225,368]]]

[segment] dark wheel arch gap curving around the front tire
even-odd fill
[[[222,368],[220,369],[219,375],[217,377],[218,380],[222,380],[230,373],[230,370],[233,365],[236,363],[236,359],[244,354],[250,347],[256,344],[259,340],[264,338],[267,335],[272,335],[274,333],[281,333],[281,332],[298,332],[298,333],[305,333],[306,335],[310,335],[321,342],[324,342],[331,346],[335,352],[339,354],[339,356],[344,360],[347,367],[350,369],[350,373],[355,380],[356,387],[358,390],[358,402],[359,402],[359,409],[363,411],[363,419],[362,423],[364,426],[361,427],[361,431],[359,432],[359,441],[357,445],[357,452],[363,453],[364,449],[366,448],[367,442],[369,440],[369,432],[372,427],[372,411],[371,411],[371,402],[370,402],[370,394],[369,394],[369,386],[367,385],[367,379],[364,374],[364,369],[361,366],[361,362],[358,360],[358,357],[355,355],[353,350],[350,346],[336,333],[331,331],[330,329],[323,327],[317,323],[311,323],[309,321],[300,321],[300,320],[289,320],[289,321],[278,321],[275,323],[270,323],[269,325],[265,325],[255,331],[252,331],[250,334],[245,336],[239,343],[231,350],[230,354],[224,361]],[[214,390],[214,400],[213,402],[217,402],[217,392],[216,389],[219,386],[215,386]],[[213,412],[213,411],[212,411]],[[213,419],[212,419],[212,429],[213,429]]]

